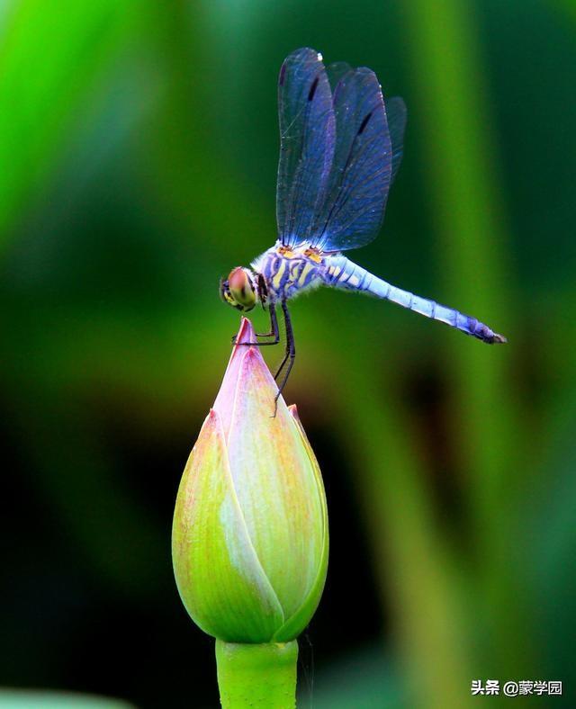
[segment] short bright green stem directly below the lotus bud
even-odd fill
[[[223,709],[293,709],[298,642],[262,645],[216,641]]]

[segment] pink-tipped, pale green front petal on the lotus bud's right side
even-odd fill
[[[272,416],[276,392],[260,353],[250,348],[230,425],[230,469],[248,534],[288,618],[318,573],[323,511],[310,453],[284,399]]]

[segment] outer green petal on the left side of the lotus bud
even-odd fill
[[[266,642],[283,622],[238,507],[214,410],[180,483],[172,553],[184,606],[205,633],[231,642]]]

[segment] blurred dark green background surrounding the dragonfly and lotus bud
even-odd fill
[[[332,537],[302,706],[498,704],[487,678],[576,704],[575,30],[570,0],[0,4],[0,685],[218,705],[171,517],[238,327],[219,279],[275,240],[277,72],[311,46],[409,107],[353,257],[509,346],[295,302]]]

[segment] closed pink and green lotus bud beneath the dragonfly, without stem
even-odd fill
[[[310,622],[328,567],[318,462],[242,320],[175,504],[175,579],[189,615],[226,643],[284,643]],[[275,414],[275,415],[274,415]]]

